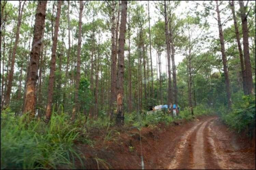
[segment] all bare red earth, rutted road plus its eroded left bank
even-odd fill
[[[78,144],[84,168],[141,169],[139,130],[115,130],[109,140],[95,132],[94,147]],[[255,169],[255,145],[217,116],[143,127],[141,136],[144,169]]]

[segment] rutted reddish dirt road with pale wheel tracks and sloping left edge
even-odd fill
[[[150,165],[145,168],[255,169],[255,153],[242,149],[217,117],[197,119],[184,128],[165,132],[159,153],[147,156],[146,165]]]

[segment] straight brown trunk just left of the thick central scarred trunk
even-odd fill
[[[110,121],[113,119],[113,107],[116,98],[116,47],[115,47],[115,2],[112,1],[112,27],[111,27],[111,92],[110,92]]]

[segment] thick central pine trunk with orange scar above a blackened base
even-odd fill
[[[120,35],[119,35],[119,50],[118,50],[118,72],[117,72],[117,116],[116,124],[124,124],[124,105],[123,105],[123,95],[124,95],[124,47],[125,47],[125,32],[126,32],[126,17],[127,17],[127,1],[122,1],[122,17],[120,23]]]

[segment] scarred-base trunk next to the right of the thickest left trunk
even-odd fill
[[[58,31],[59,31],[59,20],[60,20],[60,8],[62,1],[58,1],[57,5],[57,15],[55,20],[54,36],[53,36],[53,47],[52,47],[52,57],[50,65],[50,74],[49,74],[49,83],[48,83],[48,98],[47,98],[47,107],[46,107],[46,118],[45,122],[48,123],[51,118],[51,109],[53,102],[53,84],[54,84],[54,72],[56,67],[56,49],[57,49],[57,40],[58,40]]]

